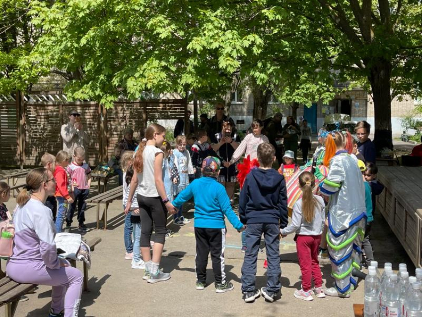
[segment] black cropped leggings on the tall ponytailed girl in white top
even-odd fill
[[[155,242],[165,242],[167,225],[167,208],[161,197],[145,197],[137,195],[141,212],[141,247],[149,247],[152,229],[155,227]]]

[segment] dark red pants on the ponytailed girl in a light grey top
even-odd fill
[[[308,292],[311,289],[312,278],[315,287],[321,287],[322,274],[318,262],[318,247],[321,243],[321,235],[297,235],[295,240],[300,271],[302,272],[302,290]]]

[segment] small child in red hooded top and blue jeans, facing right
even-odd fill
[[[68,171],[66,168],[69,165],[70,155],[66,151],[59,151],[56,156],[56,170],[53,175],[56,179],[56,193],[55,197],[58,202],[57,218],[56,218],[56,232],[61,233],[63,222],[65,221],[66,213],[68,211],[68,203],[73,203],[73,192],[71,191],[71,183]]]

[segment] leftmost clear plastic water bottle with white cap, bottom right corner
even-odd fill
[[[368,267],[368,275],[365,278],[365,299],[363,304],[364,317],[379,316],[379,290],[380,281],[376,274],[375,266]]]

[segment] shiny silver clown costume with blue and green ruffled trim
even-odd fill
[[[321,193],[330,196],[327,231],[331,275],[337,291],[347,294],[353,268],[360,269],[361,241],[366,224],[365,188],[356,161],[341,150],[330,160],[327,178],[320,184]]]

